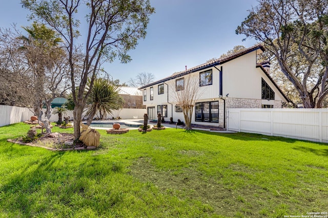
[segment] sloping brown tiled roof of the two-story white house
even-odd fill
[[[164,79],[158,80],[156,82],[150,83],[150,84],[145,85],[145,86],[141,86],[139,89],[143,89],[143,88],[146,88],[146,87],[149,87],[149,86],[152,86],[152,85],[156,85],[158,83],[163,83],[163,82],[166,82],[166,81],[169,81],[169,80],[178,78],[178,77],[182,77],[182,76],[191,74],[192,72],[195,72],[195,71],[198,71],[198,70],[202,70],[202,69],[206,69],[206,68],[209,68],[209,67],[212,67],[212,66],[216,66],[216,65],[219,65],[219,64],[226,63],[226,62],[231,61],[231,60],[233,60],[235,58],[238,58],[238,57],[240,57],[242,55],[245,55],[245,54],[254,52],[254,51],[258,50],[258,49],[262,50],[262,52],[265,51],[264,47],[261,44],[257,44],[257,45],[254,45],[252,47],[249,47],[248,49],[241,50],[241,51],[236,52],[234,54],[231,54],[229,56],[225,56],[225,57],[222,57],[222,58],[211,60],[209,62],[200,64],[198,66],[189,68],[189,69],[184,70],[184,71],[175,72],[173,75],[171,75],[169,77],[166,77]]]

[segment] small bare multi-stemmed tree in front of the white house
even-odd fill
[[[182,108],[183,117],[185,118],[186,130],[192,130],[191,120],[194,111],[196,101],[199,99],[204,91],[200,89],[199,78],[192,76],[191,74],[183,78],[183,85],[178,87],[171,86],[171,93],[174,93],[172,98],[176,102],[177,106]]]

